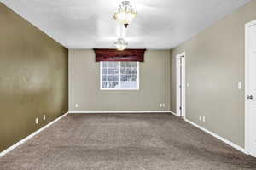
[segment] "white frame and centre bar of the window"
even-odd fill
[[[107,61],[108,62],[108,61]],[[121,61],[115,61],[115,62],[119,62],[119,82],[120,81],[120,69],[121,69]],[[129,61],[128,61],[129,62]],[[113,91],[122,91],[122,90],[139,90],[140,89],[140,62],[137,62],[137,88],[102,88],[102,62],[100,62],[100,89],[101,90],[107,90],[107,91],[110,91],[110,90],[113,90]],[[120,84],[119,84],[120,85]]]

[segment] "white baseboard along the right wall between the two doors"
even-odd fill
[[[206,128],[201,127],[201,126],[198,125],[198,124],[195,124],[195,122],[191,122],[191,121],[189,121],[188,119],[185,119],[185,122],[189,122],[191,125],[193,125],[193,126],[199,128],[199,129],[201,129],[201,130],[204,131],[205,133],[211,134],[213,137],[215,137],[215,138],[217,138],[217,139],[223,141],[223,142],[226,143],[226,144],[229,144],[230,146],[232,146],[232,147],[235,148],[236,150],[240,150],[242,153],[248,154],[248,153],[247,153],[247,150],[245,150],[245,149],[242,148],[241,146],[239,146],[239,145],[237,145],[237,144],[234,144],[234,143],[230,142],[229,140],[224,139],[224,138],[221,137],[221,136],[218,136],[218,134],[216,134],[216,133],[212,133],[211,131],[207,130]]]

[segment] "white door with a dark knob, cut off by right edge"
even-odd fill
[[[247,25],[247,151],[256,157],[256,22]]]

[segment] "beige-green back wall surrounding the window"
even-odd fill
[[[138,91],[100,90],[93,50],[69,50],[69,71],[70,111],[170,111],[170,50],[146,51]]]

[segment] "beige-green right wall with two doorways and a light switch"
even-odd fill
[[[256,1],[172,49],[175,56],[186,52],[186,113],[191,122],[244,147],[245,24],[256,20]],[[172,111],[176,111],[175,72],[172,72]],[[239,90],[237,83],[242,82]],[[206,122],[199,122],[199,116]]]

